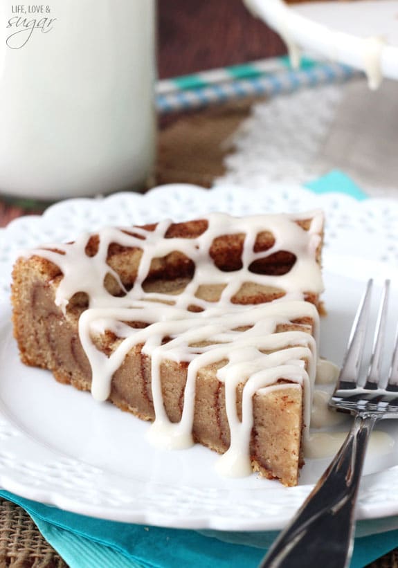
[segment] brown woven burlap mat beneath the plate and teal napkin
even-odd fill
[[[159,154],[154,180],[162,183],[195,183],[210,187],[224,174],[223,159],[230,138],[248,116],[251,101],[225,105],[164,120],[159,134]],[[19,210],[8,210],[9,218]],[[0,568],[67,568],[46,542],[35,523],[19,506],[0,499]],[[106,568],[106,567],[104,567]],[[398,549],[368,568],[398,568]]]

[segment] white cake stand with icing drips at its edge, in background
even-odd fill
[[[398,0],[311,2],[244,0],[287,44],[293,64],[300,49],[361,69],[371,89],[398,80]]]

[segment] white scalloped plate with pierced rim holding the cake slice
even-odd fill
[[[220,530],[279,529],[309,493],[325,466],[308,460],[295,488],[259,479],[221,479],[217,455],[195,446],[154,450],[147,424],[51,374],[19,363],[10,324],[10,271],[20,248],[66,240],[105,225],[165,217],[192,219],[210,210],[231,214],[323,208],[327,214],[322,351],[341,361],[365,280],[392,278],[398,313],[398,202],[361,203],[342,194],[315,195],[297,186],[266,191],[168,185],[144,196],[72,199],[42,217],[22,217],[0,231],[0,484],[24,497],[110,520]],[[398,440],[392,421],[383,429]],[[370,455],[359,496],[359,518],[398,514],[398,443]],[[393,466],[393,467],[390,467]]]

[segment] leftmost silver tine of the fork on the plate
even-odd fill
[[[373,280],[369,280],[359,308],[356,311],[336,390],[354,388],[356,386],[359,367],[361,367],[363,346],[365,345],[366,323],[370,313],[372,286]]]

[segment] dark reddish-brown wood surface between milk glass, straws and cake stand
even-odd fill
[[[242,0],[159,0],[159,77],[284,53],[278,35]]]

